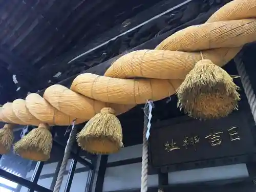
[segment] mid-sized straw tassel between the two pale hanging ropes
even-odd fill
[[[78,145],[94,154],[116,153],[123,146],[122,127],[111,108],[103,108],[77,134]]]

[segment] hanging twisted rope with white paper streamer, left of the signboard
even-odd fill
[[[147,132],[147,123],[148,123],[148,103],[145,104],[144,108],[144,128],[143,128],[143,146],[142,146],[142,167],[141,167],[141,184],[140,191],[147,191],[147,161],[148,161],[148,149],[147,149],[147,140],[146,140],[146,132]]]

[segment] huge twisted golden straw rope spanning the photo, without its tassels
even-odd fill
[[[30,94],[3,106],[8,123],[56,125],[87,121],[104,106],[117,114],[146,100],[175,94],[186,74],[201,59],[224,66],[244,44],[256,40],[256,0],[234,0],[205,24],[191,26],[163,40],[155,50],[139,50],[117,59],[104,76],[78,75],[70,89],[54,85],[44,96]],[[140,78],[142,77],[142,78]]]

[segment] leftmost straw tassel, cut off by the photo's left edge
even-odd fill
[[[12,142],[14,140],[13,136],[13,124],[5,124],[5,126],[0,129],[0,154],[4,155],[10,151]]]

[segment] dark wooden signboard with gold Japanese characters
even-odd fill
[[[256,142],[252,133],[254,125],[249,124],[248,118],[238,111],[218,120],[177,118],[153,124],[149,141],[151,164],[166,167],[251,156],[256,152]]]

